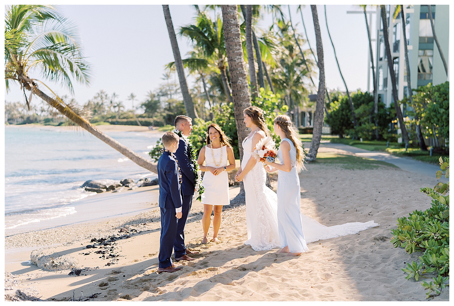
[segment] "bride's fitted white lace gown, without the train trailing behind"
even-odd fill
[[[263,131],[258,133],[265,136]],[[255,133],[254,133],[255,134]],[[246,167],[251,156],[252,134],[243,140],[243,160],[241,168]],[[280,246],[279,231],[277,230],[277,196],[266,187],[266,171],[263,164],[256,165],[244,176],[243,184],[246,192],[246,227],[247,241],[254,251],[271,250]]]

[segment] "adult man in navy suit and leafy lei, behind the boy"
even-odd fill
[[[192,131],[192,119],[188,116],[179,115],[175,118],[175,128],[187,137],[191,135]],[[191,154],[189,152],[188,145],[183,138],[180,138],[178,150],[175,152],[178,163],[181,167],[183,176],[182,191],[183,191],[183,206],[182,206],[182,217],[178,220],[177,237],[173,243],[173,250],[175,251],[176,261],[193,261],[195,258],[189,257],[187,254],[197,254],[198,251],[189,251],[184,246],[184,226],[188,219],[189,210],[192,206],[192,196],[195,191],[195,174],[194,168],[191,161]]]

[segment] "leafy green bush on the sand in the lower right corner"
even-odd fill
[[[449,177],[449,158],[439,158],[441,170],[436,177]],[[421,188],[432,198],[432,207],[425,211],[413,211],[409,217],[397,219],[397,229],[391,230],[391,243],[394,247],[403,247],[409,254],[415,251],[424,252],[419,256],[419,262],[408,263],[402,271],[407,273],[406,279],[424,275],[434,275],[429,283],[422,282],[428,290],[427,298],[438,296],[449,279],[449,182],[439,182],[434,188]]]

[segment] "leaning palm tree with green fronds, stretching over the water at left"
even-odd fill
[[[131,161],[149,171],[157,172],[157,164],[147,161],[126,146],[105,135],[83,115],[74,104],[66,104],[43,80],[32,77],[31,72],[41,71],[43,79],[58,82],[73,92],[72,79],[89,84],[89,64],[82,52],[80,39],[73,23],[60,15],[51,5],[11,5],[5,13],[5,83],[19,83],[30,92],[25,101],[30,108],[33,95],[57,109],[75,124],[80,125],[106,144],[118,150]],[[53,95],[42,91],[45,88]]]

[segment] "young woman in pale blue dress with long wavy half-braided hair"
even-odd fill
[[[298,137],[298,131],[287,115],[274,119],[274,132],[281,137],[277,155],[281,164],[265,163],[266,170],[279,171],[277,179],[277,226],[281,251],[286,256],[300,256],[308,250],[301,221],[301,191],[298,172],[306,169],[303,165],[305,153]]]

